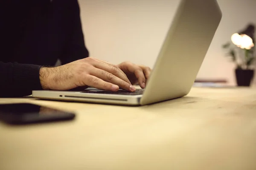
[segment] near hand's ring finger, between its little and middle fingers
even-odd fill
[[[90,71],[90,74],[95,77],[98,77],[106,82],[111,82],[115,85],[118,85],[120,88],[122,88],[126,91],[134,92],[136,90],[136,88],[133,87],[130,83],[125,82],[124,80],[120,79],[119,77],[116,77],[115,75],[113,75],[105,70],[101,70],[99,68],[93,68]]]

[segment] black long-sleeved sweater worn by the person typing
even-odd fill
[[[41,90],[41,65],[88,55],[77,0],[1,0],[0,97]]]

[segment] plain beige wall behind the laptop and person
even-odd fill
[[[198,78],[234,82],[233,63],[221,45],[231,34],[256,23],[256,0],[218,0],[223,18]],[[179,0],[79,0],[90,56],[113,63],[130,60],[153,67]],[[198,47],[200,50],[200,47]]]

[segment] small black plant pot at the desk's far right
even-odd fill
[[[238,86],[250,86],[254,70],[236,69],[236,83]]]

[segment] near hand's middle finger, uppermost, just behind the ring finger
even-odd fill
[[[131,84],[128,77],[125,74],[122,74],[122,71],[120,71],[119,69],[117,69],[116,67],[114,67],[110,64],[96,60],[96,62],[93,63],[93,66],[96,68],[99,68],[101,70],[105,70],[105,71],[115,75],[116,77],[119,77],[119,79],[122,79],[125,82],[128,82],[129,84]]]

